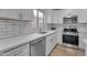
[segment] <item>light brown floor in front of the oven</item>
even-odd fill
[[[84,56],[85,51],[56,45],[50,56]]]

